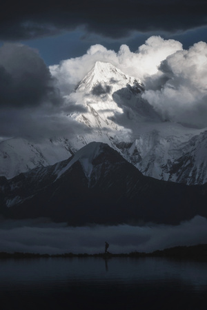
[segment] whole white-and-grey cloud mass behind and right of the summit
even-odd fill
[[[121,45],[119,52],[92,45],[81,57],[50,66],[63,96],[68,96],[96,61],[110,62],[125,74],[141,79],[143,98],[169,120],[189,127],[207,126],[207,44],[183,50],[181,43],[150,37],[137,52]]]

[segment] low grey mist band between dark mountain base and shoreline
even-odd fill
[[[67,227],[37,220],[1,220],[0,251],[61,254],[103,253],[105,241],[112,253],[155,251],[178,245],[207,243],[207,220],[196,216],[177,226]]]

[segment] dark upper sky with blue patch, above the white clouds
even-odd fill
[[[176,39],[184,48],[206,40],[204,0],[6,1],[0,40],[37,48],[48,64],[81,56],[101,43],[133,52],[152,35]]]

